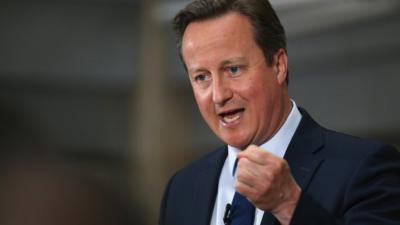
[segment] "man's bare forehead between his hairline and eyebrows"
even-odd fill
[[[187,26],[182,39],[185,63],[207,54],[241,57],[235,54],[245,54],[254,47],[256,44],[250,20],[236,12],[192,22]]]

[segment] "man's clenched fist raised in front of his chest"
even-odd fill
[[[237,157],[236,191],[257,208],[271,212],[282,225],[289,224],[301,188],[288,163],[255,145]]]

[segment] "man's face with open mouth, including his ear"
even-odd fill
[[[286,54],[278,51],[268,65],[247,17],[192,22],[181,50],[200,112],[225,143],[245,149],[279,129],[290,105]]]

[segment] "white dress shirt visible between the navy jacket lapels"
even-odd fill
[[[273,153],[274,155],[283,158],[286,149],[289,146],[294,132],[296,131],[300,120],[301,114],[292,100],[293,107],[287,117],[285,123],[278,130],[278,132],[267,142],[260,147]],[[240,150],[228,145],[228,157],[222,167],[221,175],[218,183],[218,193],[214,204],[214,210],[211,218],[211,225],[224,225],[223,217],[225,213],[226,204],[232,203],[235,194],[235,178],[232,176],[233,167],[236,160],[236,155]],[[260,225],[264,211],[256,208],[254,225]]]

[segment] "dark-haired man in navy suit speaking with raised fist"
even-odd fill
[[[161,225],[400,223],[399,153],[322,128],[289,98],[267,0],[197,0],[174,25],[200,112],[227,146],[171,178]]]

